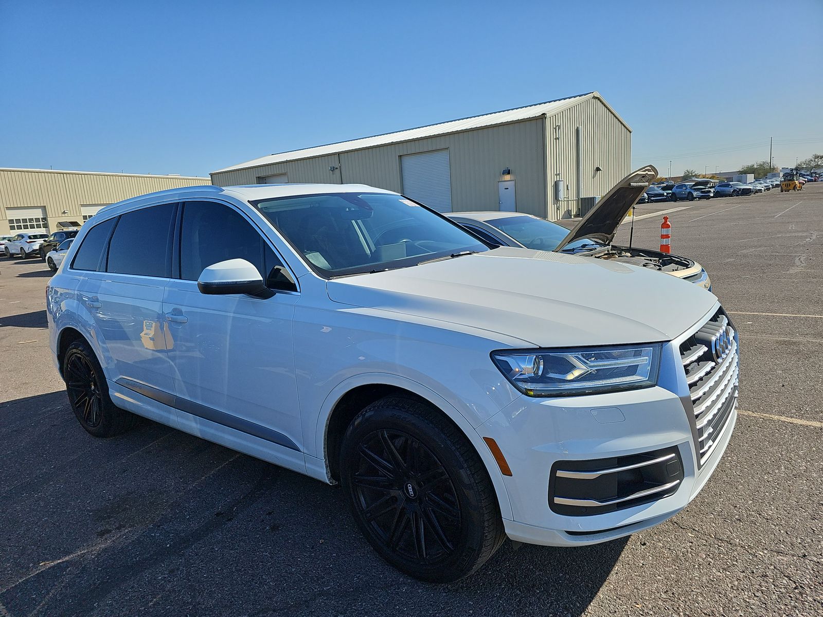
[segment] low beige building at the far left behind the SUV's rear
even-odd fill
[[[210,183],[174,175],[0,168],[0,235],[54,232],[60,223],[82,223],[101,207],[128,197]]]

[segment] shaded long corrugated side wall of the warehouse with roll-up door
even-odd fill
[[[402,193],[400,156],[449,149],[453,211],[497,210],[500,171],[509,168],[518,211],[546,215],[546,151],[543,118],[429,137],[340,155],[212,174],[219,186],[255,183],[287,173],[289,182],[364,183]],[[339,162],[338,162],[339,156]],[[337,167],[333,172],[329,167]]]

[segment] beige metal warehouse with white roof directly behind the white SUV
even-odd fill
[[[282,152],[212,173],[218,186],[364,183],[439,211],[557,220],[629,173],[631,128],[597,92],[375,137]]]

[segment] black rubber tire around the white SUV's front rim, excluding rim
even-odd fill
[[[437,423],[427,417],[434,413],[436,412],[421,403],[402,399],[378,401],[367,407],[352,421],[343,437],[340,476],[343,491],[357,527],[383,559],[413,578],[429,582],[450,582],[472,573],[480,565],[477,562],[483,554],[486,521],[483,520],[481,514],[479,495],[480,490],[484,488],[494,489],[491,487],[491,480],[485,473],[485,468],[483,472],[486,477],[475,477],[476,475],[469,471],[470,463],[453,445],[455,435],[445,434]],[[357,457],[359,457],[356,453],[356,446],[369,434],[379,429],[398,430],[416,438],[426,448],[429,448],[449,475],[460,506],[460,538],[453,554],[439,564],[424,566],[393,553],[380,543],[369,524],[360,517],[356,506],[356,492],[351,484],[351,476],[357,468]],[[461,437],[466,439],[465,436],[461,435]],[[471,444],[469,448],[472,448]],[[477,457],[477,453],[473,453]],[[484,483],[488,486],[482,487]],[[499,513],[497,517],[500,517]]]

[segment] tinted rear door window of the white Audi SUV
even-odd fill
[[[120,216],[109,244],[106,271],[141,276],[169,276],[169,247],[174,212],[175,204],[165,203]]]

